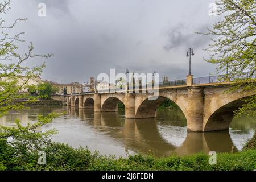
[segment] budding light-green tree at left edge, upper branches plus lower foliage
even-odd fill
[[[0,2],[0,14],[6,14],[9,10],[10,1]],[[34,101],[14,102],[21,98],[28,98],[28,93],[20,93],[19,91],[27,90],[29,88],[28,82],[38,78],[44,68],[44,64],[28,67],[26,61],[34,57],[47,58],[51,56],[49,54],[38,55],[33,53],[34,47],[31,42],[28,46],[28,51],[26,53],[20,53],[18,44],[22,45],[21,43],[25,42],[20,38],[24,32],[20,32],[14,36],[9,35],[9,32],[16,27],[18,22],[24,20],[26,19],[19,18],[10,25],[6,25],[5,19],[0,18],[0,117],[9,110],[24,109],[26,108],[24,104]],[[30,87],[30,89],[32,89],[32,87]],[[34,91],[33,88],[31,92]],[[39,115],[38,122],[30,123],[27,126],[22,126],[19,120],[16,120],[16,127],[0,126],[0,143],[6,143],[7,148],[10,149],[8,150],[8,155],[3,155],[1,149],[1,158],[13,154],[20,158],[21,161],[25,159],[29,160],[30,156],[28,155],[28,151],[32,151],[35,148],[39,150],[40,147],[48,141],[49,136],[56,133],[55,130],[49,130],[43,133],[37,131],[36,128],[51,122],[52,118],[56,116],[56,114],[49,114],[47,117]],[[7,140],[10,137],[12,140]],[[3,160],[0,161],[0,169],[5,169],[2,162]],[[11,160],[11,162],[15,163],[16,160]]]

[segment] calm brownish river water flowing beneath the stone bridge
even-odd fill
[[[187,122],[177,109],[158,109],[156,119],[125,119],[124,111],[94,113],[93,110],[63,106],[34,106],[29,110],[13,111],[0,118],[0,125],[15,126],[19,118],[24,125],[35,121],[38,114],[51,112],[67,114],[53,120],[42,130],[57,129],[57,142],[73,147],[88,146],[100,154],[127,156],[138,152],[152,152],[156,156],[173,153],[236,152],[251,138],[256,129],[255,118],[233,119],[229,131],[207,133],[187,132]]]

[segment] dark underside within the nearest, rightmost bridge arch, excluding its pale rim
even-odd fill
[[[246,104],[246,98],[249,97],[231,101],[214,111],[204,122],[203,131],[229,130],[230,123],[235,117],[235,111]]]

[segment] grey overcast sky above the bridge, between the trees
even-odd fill
[[[38,4],[46,4],[46,17],[38,16]],[[22,0],[12,1],[7,22],[28,18],[15,31],[32,41],[36,53],[54,53],[46,61],[42,78],[56,82],[86,82],[99,73],[129,71],[152,73],[169,80],[185,78],[192,47],[192,74],[214,73],[203,51],[209,37],[206,31],[220,17],[210,17],[210,0]],[[25,49],[28,42],[23,44]]]

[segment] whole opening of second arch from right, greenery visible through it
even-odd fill
[[[174,115],[171,111],[176,110],[179,115]],[[164,115],[165,114],[165,115]],[[149,100],[148,98],[144,100],[141,105],[139,105],[135,118],[160,118],[166,117],[173,118],[174,120],[183,120],[186,122],[186,118],[183,110],[172,100],[167,97],[159,96],[156,100]]]

